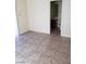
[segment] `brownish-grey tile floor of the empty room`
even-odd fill
[[[15,64],[71,64],[71,39],[28,31],[16,38]]]

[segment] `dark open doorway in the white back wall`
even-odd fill
[[[50,34],[61,34],[61,1],[50,2]]]

